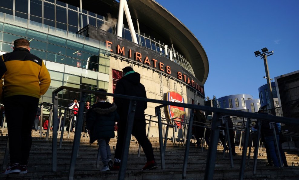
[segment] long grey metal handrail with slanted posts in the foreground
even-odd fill
[[[126,170],[126,161],[127,161],[127,154],[128,153],[128,147],[130,144],[130,137],[128,137],[131,134],[132,126],[133,126],[133,115],[135,113],[135,107],[136,103],[135,101],[146,101],[150,103],[156,103],[156,104],[161,104],[159,106],[156,106],[156,116],[159,116],[159,139],[160,139],[160,155],[161,155],[161,168],[164,168],[164,151],[163,151],[163,142],[162,142],[162,122],[161,122],[161,111],[159,111],[160,107],[164,107],[167,105],[172,105],[172,106],[178,106],[178,107],[185,107],[189,109],[199,109],[203,111],[208,111],[208,112],[214,112],[214,116],[212,119],[212,131],[211,131],[211,141],[210,141],[210,146],[208,150],[208,158],[207,158],[207,163],[206,163],[206,169],[205,169],[205,179],[206,180],[212,180],[213,179],[213,173],[214,173],[214,168],[215,168],[215,153],[217,151],[217,143],[218,143],[218,137],[219,137],[219,129],[220,129],[220,124],[221,120],[219,120],[219,117],[223,115],[235,115],[235,116],[240,116],[240,117],[247,117],[248,120],[246,122],[246,127],[245,127],[245,142],[244,142],[244,148],[242,152],[242,163],[241,163],[241,168],[240,168],[240,179],[242,175],[244,175],[244,168],[245,168],[245,157],[246,157],[246,151],[247,151],[247,145],[248,145],[248,137],[249,137],[249,129],[250,129],[250,122],[251,119],[259,119],[259,120],[265,120],[265,121],[270,121],[270,122],[280,122],[284,124],[293,124],[293,125],[299,125],[299,121],[296,121],[294,118],[286,118],[286,117],[276,117],[273,115],[267,115],[267,114],[257,114],[257,113],[250,113],[250,112],[244,112],[244,111],[237,111],[237,110],[229,110],[229,109],[220,109],[220,108],[215,108],[215,107],[207,107],[207,106],[200,106],[200,105],[195,105],[195,104],[183,104],[183,103],[176,103],[176,102],[169,102],[169,101],[163,101],[163,100],[155,100],[155,99],[148,99],[148,98],[143,98],[143,97],[135,97],[135,96],[126,96],[126,95],[120,95],[120,94],[112,94],[112,93],[104,93],[104,92],[97,92],[97,91],[92,91],[92,90],[85,90],[85,89],[77,89],[73,87],[65,87],[61,86],[57,88],[56,90],[53,91],[53,96],[52,96],[52,102],[54,103],[54,110],[53,113],[54,115],[58,113],[58,92],[60,92],[63,89],[68,89],[68,90],[76,90],[81,92],[81,97],[80,97],[80,105],[84,106],[85,98],[86,98],[86,93],[93,93],[93,94],[101,94],[101,95],[106,95],[106,96],[112,96],[116,98],[122,98],[122,99],[129,99],[130,100],[130,106],[129,106],[129,114],[128,114],[128,122],[127,122],[127,132],[126,132],[126,141],[124,142],[124,148],[122,152],[122,163],[120,165],[120,172],[119,172],[119,177],[118,179],[124,179],[125,177],[125,170]],[[79,108],[78,112],[78,120],[77,120],[77,126],[80,129],[82,126],[82,117],[83,117],[83,108]],[[190,136],[189,134],[191,133],[190,130],[192,127],[192,119],[193,115],[192,112],[190,114],[190,126],[188,128],[188,138],[187,142],[190,141]],[[52,171],[57,170],[57,121],[53,122],[53,147],[52,147]],[[74,144],[73,144],[73,150],[72,150],[72,158],[71,158],[71,165],[70,165],[70,172],[69,172],[69,179],[73,179],[74,177],[74,166],[75,166],[75,161],[76,161],[76,156],[78,153],[79,145],[80,145],[80,131],[75,132],[75,137],[74,137]],[[186,150],[189,148],[189,145],[186,145]],[[188,152],[185,150],[185,157],[184,162],[188,160]],[[55,155],[54,155],[55,154]],[[183,168],[184,169],[184,168]],[[184,175],[184,173],[182,174]]]

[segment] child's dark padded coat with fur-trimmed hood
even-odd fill
[[[116,105],[109,102],[94,104],[86,114],[87,129],[90,130],[90,143],[104,138],[114,138],[114,122],[119,116]]]

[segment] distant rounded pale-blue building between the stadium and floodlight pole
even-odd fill
[[[231,110],[257,112],[260,106],[259,99],[253,99],[249,94],[235,94],[218,98],[219,107]]]

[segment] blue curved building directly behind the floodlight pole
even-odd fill
[[[272,88],[272,96],[273,96],[274,106],[280,107],[274,81],[271,82],[271,88]],[[264,84],[258,88],[258,95],[260,97],[261,108],[264,110],[269,109],[269,104],[270,104],[269,92],[270,91],[268,90],[268,84]]]

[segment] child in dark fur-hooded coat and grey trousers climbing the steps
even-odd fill
[[[98,92],[107,92],[104,89]],[[87,113],[87,129],[90,134],[90,143],[98,141],[100,155],[104,167],[101,171],[109,171],[113,166],[109,146],[110,138],[114,138],[114,124],[119,120],[116,105],[106,102],[106,95],[96,95],[97,103]]]

